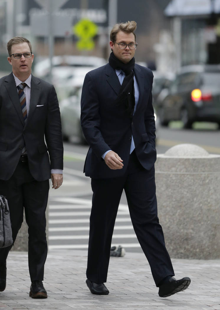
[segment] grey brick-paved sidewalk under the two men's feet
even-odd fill
[[[10,252],[7,288],[0,293],[0,310],[91,309],[91,310],[219,310],[220,260],[172,259],[176,278],[191,277],[183,292],[160,298],[142,253],[126,253],[110,259],[107,296],[93,295],[85,280],[87,251],[51,250],[45,265],[47,299],[29,297],[27,253]]]

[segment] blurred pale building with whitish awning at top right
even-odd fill
[[[176,67],[220,63],[220,0],[172,0],[171,20]]]

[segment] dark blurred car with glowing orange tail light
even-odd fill
[[[217,122],[220,127],[220,65],[194,65],[180,69],[168,89],[156,99],[161,125],[181,120],[184,128],[193,122]]]

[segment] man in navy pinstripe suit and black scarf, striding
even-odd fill
[[[82,88],[81,126],[90,145],[84,172],[93,190],[86,284],[93,294],[109,293],[104,282],[124,189],[159,296],[167,297],[186,289],[190,279],[173,278],[157,217],[153,74],[135,64],[135,29],[134,21],[114,25],[109,63],[87,73]]]

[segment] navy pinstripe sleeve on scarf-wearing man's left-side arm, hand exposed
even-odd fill
[[[99,160],[109,150],[100,131],[99,97],[90,73],[86,74],[81,95],[81,127],[86,141]]]

